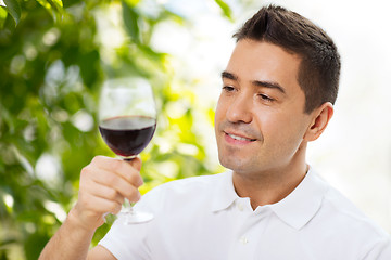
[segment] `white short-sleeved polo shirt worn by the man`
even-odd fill
[[[231,172],[163,184],[137,209],[154,220],[115,222],[100,242],[119,260],[391,260],[390,235],[313,169],[286,198],[255,210]]]

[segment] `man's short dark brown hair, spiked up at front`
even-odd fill
[[[310,20],[281,6],[262,8],[234,35],[279,46],[302,61],[298,81],[305,94],[305,113],[325,102],[335,104],[341,61],[332,39]]]

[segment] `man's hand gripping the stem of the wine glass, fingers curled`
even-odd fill
[[[116,214],[124,199],[138,202],[141,160],[131,161],[97,156],[83,168],[78,200],[71,210],[74,220],[86,230],[96,230],[104,223],[104,213]]]

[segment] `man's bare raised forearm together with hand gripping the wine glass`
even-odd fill
[[[118,213],[124,198],[139,199],[140,168],[139,158],[128,162],[103,156],[94,157],[83,168],[78,200],[39,260],[86,260],[87,255],[91,259],[115,259],[103,247],[89,252],[89,246],[93,233],[104,223],[104,213]]]

